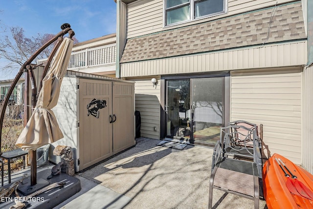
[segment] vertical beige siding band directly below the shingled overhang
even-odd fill
[[[296,53],[295,53],[296,52]],[[121,64],[121,77],[305,65],[307,42],[224,50]]]

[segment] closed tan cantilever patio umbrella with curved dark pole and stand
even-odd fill
[[[17,140],[16,145],[20,146],[23,150],[28,150],[28,153],[31,154],[31,187],[28,187],[27,184],[20,185],[19,190],[23,187],[25,191],[32,192],[36,189],[39,189],[40,186],[45,184],[49,184],[47,181],[40,181],[39,184],[36,183],[36,149],[40,146],[55,142],[61,138],[63,138],[62,131],[59,128],[57,120],[51,111],[51,108],[57,104],[59,93],[60,93],[60,85],[64,74],[67,70],[67,65],[70,58],[71,49],[73,46],[72,37],[75,35],[74,31],[70,28],[68,23],[61,25],[62,31],[56,34],[51,40],[46,42],[43,46],[41,46],[30,58],[22,64],[18,74],[13,80],[7,95],[5,96],[2,105],[6,107],[9,101],[9,97],[12,94],[17,82],[21,78],[24,72],[28,73],[28,77],[31,84],[31,93],[32,93],[32,107],[35,106],[35,110],[31,118],[28,120],[25,128],[22,130],[20,137]],[[63,39],[62,37],[67,34],[69,38]],[[54,55],[54,62],[50,67],[48,73],[46,72],[46,68],[44,69],[43,75],[46,75],[43,79],[42,83],[44,87],[41,88],[39,99],[36,103],[35,97],[37,94],[37,86],[34,78],[33,67],[31,63],[34,59],[51,43],[57,41],[54,46],[50,57],[47,60],[47,66],[50,65],[52,57]],[[37,65],[38,66],[38,65]],[[27,82],[28,84],[28,82]],[[1,145],[1,136],[2,136],[2,125],[4,119],[5,108],[0,109],[0,145]],[[26,114],[27,115],[27,114]],[[2,154],[0,150],[0,154]],[[42,180],[42,179],[41,179]],[[37,184],[37,185],[36,185]],[[35,186],[36,185],[36,186]],[[34,186],[34,187],[32,187]],[[35,190],[33,190],[35,189]],[[29,194],[29,193],[27,193]]]

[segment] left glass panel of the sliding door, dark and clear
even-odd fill
[[[166,135],[190,138],[190,79],[168,80],[166,98]]]

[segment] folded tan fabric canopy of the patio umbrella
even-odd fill
[[[40,146],[63,138],[63,133],[51,108],[58,103],[60,87],[67,71],[72,46],[73,40],[68,37],[64,38],[43,79],[43,87],[35,109],[16,142],[16,145],[23,150],[36,150]]]

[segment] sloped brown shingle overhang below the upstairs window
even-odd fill
[[[120,63],[295,40],[306,40],[300,1],[128,39]]]

